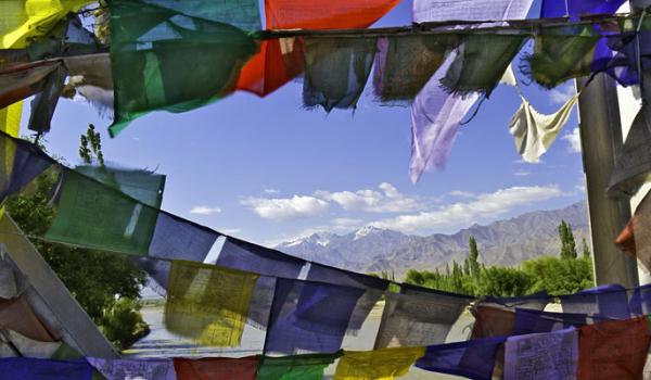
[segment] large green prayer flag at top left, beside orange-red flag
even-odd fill
[[[252,34],[233,26],[259,23],[255,0],[111,0],[110,5],[112,136],[150,111],[184,112],[231,93],[258,49]]]

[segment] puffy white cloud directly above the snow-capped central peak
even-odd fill
[[[357,191],[317,191],[315,195],[335,202],[346,211],[363,211],[367,213],[404,213],[421,208],[420,203],[400,193],[393,185],[382,182],[378,190]]]

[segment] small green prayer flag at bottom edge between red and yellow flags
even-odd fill
[[[282,357],[263,357],[257,380],[321,380],[323,370],[341,354],[311,354]]]

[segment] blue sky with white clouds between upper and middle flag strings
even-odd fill
[[[378,25],[409,24],[410,8],[403,1]],[[572,89],[523,88],[544,113]],[[77,164],[79,135],[93,123],[107,160],[167,175],[165,210],[266,244],[369,224],[454,232],[585,199],[580,154],[571,143],[575,113],[542,163],[524,164],[508,131],[520,99],[500,86],[462,127],[446,169],[413,186],[409,109],[382,106],[370,91],[355,113],[326,114],[302,107],[295,81],[265,99],[241,92],[183,114],[152,113],[115,139],[105,132],[111,121],[84,100],[62,100],[46,139],[50,152]]]

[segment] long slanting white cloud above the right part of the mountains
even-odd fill
[[[514,207],[562,197],[558,185],[512,187],[493,193],[477,194],[468,202],[458,202],[436,211],[400,215],[372,223],[372,226],[412,233],[465,227],[483,218],[495,218]]]

